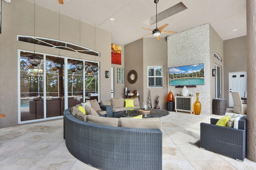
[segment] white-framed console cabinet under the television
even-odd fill
[[[175,96],[175,111],[194,112],[194,96]]]

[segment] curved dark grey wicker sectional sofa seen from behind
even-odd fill
[[[70,109],[64,111],[64,139],[78,160],[104,170],[162,170],[160,129],[99,125],[76,118]]]

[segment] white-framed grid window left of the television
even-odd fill
[[[148,88],[164,88],[164,66],[148,66]]]

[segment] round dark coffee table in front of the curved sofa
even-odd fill
[[[129,109],[122,111],[122,115],[126,117],[135,117],[138,115],[142,115],[142,118],[156,118],[156,117],[164,117],[169,115],[168,111],[160,110],[160,109],[149,109],[150,113],[139,113],[138,109]]]

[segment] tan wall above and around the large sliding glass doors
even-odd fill
[[[59,40],[59,13],[36,5],[35,36]],[[79,34],[79,18],[73,19],[60,15],[60,40],[82,45],[100,52],[100,99],[110,99],[111,79],[105,78],[105,71],[111,70],[111,33],[96,28],[94,43],[94,26],[81,22]],[[2,34],[0,34],[0,113],[6,117],[0,120],[0,128],[18,125],[18,49],[34,51],[34,44],[18,42],[17,35],[34,36],[34,3],[25,0],[2,3]],[[81,35],[81,42],[79,35]],[[94,47],[95,45],[95,47]],[[36,52],[58,55],[59,50],[35,45]],[[60,50],[65,57],[94,61],[95,57]]]

